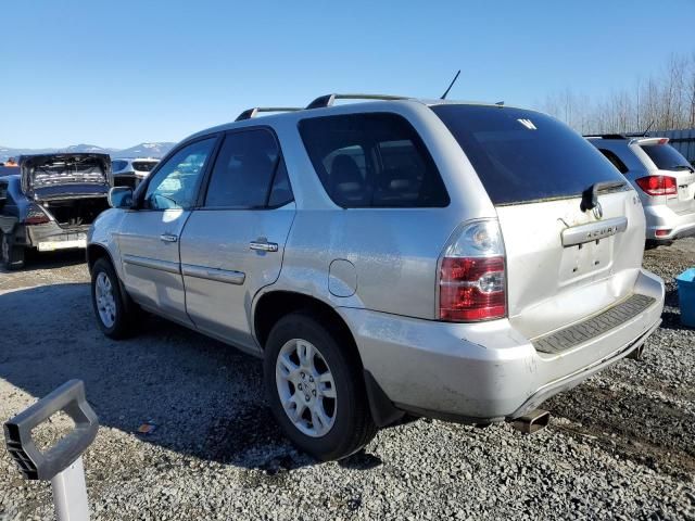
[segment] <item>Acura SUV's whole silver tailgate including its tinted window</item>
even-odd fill
[[[565,124],[513,107],[433,106],[497,211],[511,323],[527,338],[628,298],[645,239],[640,199],[601,152]],[[595,189],[599,205],[585,209]],[[590,204],[591,205],[591,204]]]

